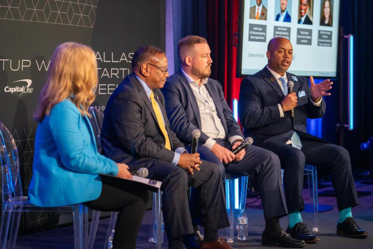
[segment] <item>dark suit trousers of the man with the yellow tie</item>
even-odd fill
[[[139,159],[142,160],[144,158]],[[192,220],[194,224],[209,231],[229,226],[223,183],[216,166],[203,161],[201,170],[190,175],[183,168],[167,161],[151,158],[145,160],[147,163],[143,167],[154,172],[151,179],[162,181],[162,211],[169,240],[193,233]],[[136,159],[128,163],[130,168],[136,165]],[[197,201],[191,201],[191,205],[188,205],[188,186],[196,188],[198,192],[194,196]]]

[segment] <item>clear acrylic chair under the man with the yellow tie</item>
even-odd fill
[[[96,144],[97,144],[97,151],[98,153],[101,154],[102,148],[101,148],[101,128],[102,128],[102,123],[104,120],[104,114],[98,110],[96,107],[91,106],[88,108],[88,112],[91,114],[90,117],[90,123],[93,128],[93,133],[95,135],[96,139]],[[150,235],[149,235],[149,242],[153,242],[153,228],[154,228],[154,219],[157,221],[157,238],[161,237],[162,233],[162,193],[159,190],[157,193],[154,193],[153,195],[153,214],[152,214],[152,224],[150,226]],[[106,239],[104,242],[104,249],[107,249],[107,245],[109,242],[109,237],[110,234],[112,233],[112,230],[115,229],[115,224],[117,220],[118,212],[112,212],[110,215],[110,221],[109,221],[109,228],[107,229],[106,233]],[[97,231],[97,226],[98,226],[98,220],[100,218],[100,211],[93,210],[93,218],[91,221],[91,227],[96,228],[90,230],[90,237],[95,237],[96,231]],[[87,249],[92,249],[93,248],[93,243],[90,243],[88,245]],[[156,243],[156,248],[162,248],[162,240],[157,240]]]

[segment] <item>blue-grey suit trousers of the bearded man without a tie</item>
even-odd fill
[[[231,149],[226,139],[214,139],[221,146]],[[258,178],[258,189],[263,204],[264,218],[283,217],[287,214],[285,195],[282,191],[281,168],[278,156],[254,145],[245,148],[246,154],[241,161],[223,164],[203,145],[198,145],[198,153],[203,160],[214,163],[220,174],[228,173],[239,176],[255,176]]]

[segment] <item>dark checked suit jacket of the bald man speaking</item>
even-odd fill
[[[296,78],[292,79],[292,76]],[[311,102],[311,91],[306,78],[288,72],[286,77],[288,81],[294,82],[293,91],[298,97],[294,118],[291,118],[288,112],[284,113],[284,117],[280,117],[278,104],[285,95],[267,67],[241,82],[238,114],[244,127],[244,135],[251,136],[255,145],[264,148],[270,148],[273,144],[285,144],[294,130],[297,130],[301,139],[327,142],[307,134],[305,129],[307,118],[316,119],[324,116],[325,101],[322,100],[320,107]]]

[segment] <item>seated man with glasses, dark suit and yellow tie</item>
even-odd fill
[[[184,248],[181,236],[194,232],[192,220],[205,229],[201,248],[232,249],[217,233],[229,226],[219,170],[201,161],[198,153],[188,154],[170,130],[159,90],[169,76],[164,51],[140,47],[132,58],[132,71],[107,103],[101,132],[104,154],[131,169],[146,167],[148,178],[162,181],[169,249]],[[198,189],[197,201],[191,202],[198,206],[188,206],[188,186]]]

